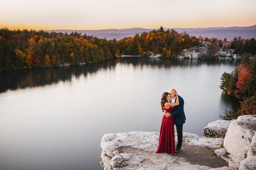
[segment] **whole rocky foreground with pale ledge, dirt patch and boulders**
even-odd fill
[[[238,169],[240,164],[240,169],[255,169],[255,120],[256,116],[240,116],[230,123],[224,139],[183,133],[183,146],[177,157],[156,153],[158,132],[104,134],[100,164],[104,169]],[[217,122],[220,127],[227,126],[227,122]],[[246,141],[244,147],[237,145],[241,140]]]

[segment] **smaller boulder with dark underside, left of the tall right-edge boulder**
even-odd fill
[[[217,120],[204,128],[204,137],[224,138],[231,121]]]

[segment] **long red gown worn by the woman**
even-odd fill
[[[172,107],[165,109],[166,112],[171,113]],[[160,134],[159,144],[156,153],[171,153],[174,155],[175,150],[175,137],[174,137],[174,123],[173,117],[163,116]]]

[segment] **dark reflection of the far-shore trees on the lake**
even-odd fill
[[[44,69],[26,69],[0,73],[0,93],[10,89],[45,86],[59,81],[71,81],[72,77],[94,74],[103,69],[114,69],[117,65],[132,65],[134,68],[152,67],[200,67],[201,65],[236,65],[236,61],[223,60],[181,60],[181,59],[154,59],[154,58],[121,58],[84,66],[56,67]]]

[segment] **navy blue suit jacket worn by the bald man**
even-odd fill
[[[184,112],[184,100],[182,97],[179,97],[179,105],[173,107],[171,116],[174,117],[174,124],[180,125],[184,124],[186,120],[185,112]]]

